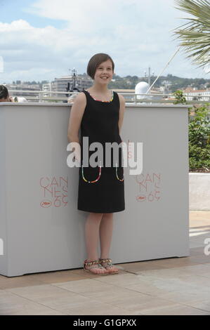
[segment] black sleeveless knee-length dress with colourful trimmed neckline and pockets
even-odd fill
[[[105,166],[105,143],[115,142],[119,145],[122,142],[118,126],[119,96],[113,91],[112,100],[103,102],[95,100],[88,91],[83,92],[86,95],[86,108],[81,119],[81,167],[79,167],[77,209],[96,213],[124,211],[122,147],[118,148],[117,158],[116,152],[111,153],[111,166]],[[88,137],[88,147],[94,142],[100,142],[103,145],[103,159],[96,157],[98,161],[96,167],[90,164],[88,167],[83,166],[84,137]],[[94,151],[88,151],[88,157],[96,151],[97,148]],[[101,167],[100,161],[102,161]]]

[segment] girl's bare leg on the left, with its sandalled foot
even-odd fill
[[[86,249],[88,254],[88,261],[98,260],[97,256],[97,246],[99,239],[99,227],[100,221],[102,219],[103,213],[89,213],[86,219],[85,225],[85,236],[86,236]],[[92,266],[85,266],[86,270],[91,270],[95,274],[102,274],[107,272],[105,268],[98,268]]]

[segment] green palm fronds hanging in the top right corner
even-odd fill
[[[175,3],[179,6],[176,9],[194,16],[184,18],[189,22],[175,29],[174,34],[182,40],[180,46],[185,53],[191,53],[187,58],[192,57],[198,67],[207,66],[210,63],[210,0],[175,0]]]

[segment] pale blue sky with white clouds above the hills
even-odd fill
[[[0,0],[0,84],[52,81],[86,72],[95,53],[108,53],[115,73],[159,74],[178,48],[173,29],[190,17],[173,0]],[[206,78],[183,49],[164,75]]]

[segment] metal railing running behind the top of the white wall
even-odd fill
[[[79,92],[60,92],[60,91],[14,91],[9,90],[8,91],[11,96],[22,96],[25,97],[29,102],[37,102],[37,103],[43,103],[43,102],[62,102],[67,103],[67,99],[71,95],[77,95]],[[27,95],[25,95],[27,94]],[[31,94],[31,95],[28,95]],[[55,94],[55,96],[53,96]],[[174,98],[173,94],[166,94],[166,93],[120,93],[124,96],[126,103],[131,103],[133,105],[138,105],[140,103],[161,103],[161,104],[167,104],[167,103],[174,103],[176,101],[176,98]],[[63,96],[62,96],[63,95]],[[142,98],[143,96],[146,96],[146,98]],[[185,98],[195,98],[195,96],[191,95],[185,95]],[[171,100],[169,100],[171,98]],[[210,95],[199,95],[197,96],[199,100],[187,100],[187,104],[205,104],[210,102]],[[208,98],[208,100],[200,100],[201,98]]]

